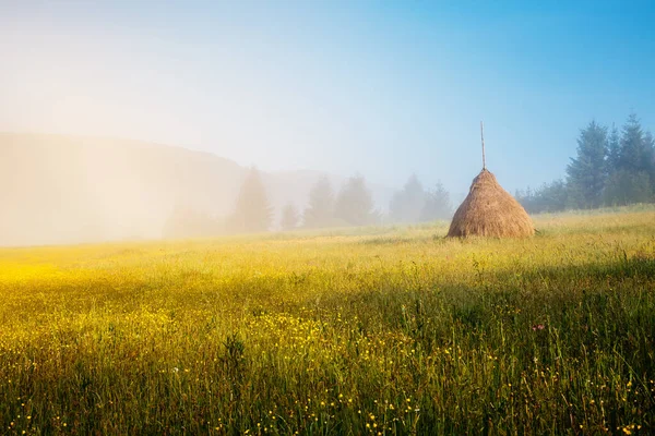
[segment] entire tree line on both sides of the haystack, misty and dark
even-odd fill
[[[591,121],[580,131],[576,156],[571,158],[565,173],[563,180],[545,183],[537,190],[517,191],[516,199],[528,213],[655,202],[655,140],[634,113],[620,131]],[[290,203],[283,207],[278,228],[288,231],[413,223],[449,219],[452,211],[450,194],[443,185],[437,183],[426,190],[415,174],[394,193],[384,214],[376,208],[364,177],[350,177],[338,192],[323,177],[311,186],[302,210]],[[214,218],[177,207],[164,233],[190,237],[264,232],[273,227],[273,216],[260,172],[251,168],[230,216]]]

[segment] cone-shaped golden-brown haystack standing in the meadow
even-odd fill
[[[448,237],[523,238],[535,233],[529,216],[486,168],[473,179]]]

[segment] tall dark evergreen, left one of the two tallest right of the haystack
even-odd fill
[[[607,128],[592,121],[580,132],[577,156],[567,167],[568,184],[576,195],[574,207],[598,207],[607,180]]]

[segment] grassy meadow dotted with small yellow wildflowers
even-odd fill
[[[0,434],[653,434],[655,207],[0,250]]]

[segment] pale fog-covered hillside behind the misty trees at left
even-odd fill
[[[0,134],[0,245],[159,238],[176,205],[228,215],[247,168],[123,140]],[[276,213],[302,207],[321,173],[264,173]],[[331,178],[335,190],[340,178]],[[371,186],[381,208],[390,189]],[[276,222],[276,221],[275,221]]]

